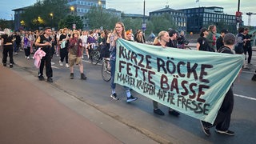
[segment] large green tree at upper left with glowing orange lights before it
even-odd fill
[[[58,22],[65,18],[68,12],[67,0],[38,0],[34,6],[29,6],[24,10],[22,21],[32,30],[38,27],[58,26]]]

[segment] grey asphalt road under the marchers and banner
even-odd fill
[[[110,83],[102,81],[101,66],[93,66],[88,62],[85,63],[87,75],[86,81],[79,79],[78,68],[75,69],[75,78],[70,80],[69,70],[64,66],[58,66],[58,58],[54,58],[54,83],[49,84],[58,90],[63,90],[72,98],[78,98],[81,102],[93,107],[95,110],[101,111],[106,116],[114,118],[118,122],[122,122],[131,129],[137,130],[139,133],[146,134],[147,137],[154,139],[156,142],[162,143],[254,143],[256,141],[256,82],[252,82],[250,78],[254,74],[256,68],[256,53],[253,53],[253,66],[248,70],[242,70],[239,78],[234,82],[234,112],[230,130],[234,130],[236,135],[228,137],[225,135],[215,134],[212,130],[210,138],[202,133],[200,124],[197,119],[181,114],[179,118],[175,118],[167,114],[166,106],[160,106],[165,116],[153,114],[152,101],[140,94],[132,92],[138,97],[137,102],[126,103],[126,94],[122,86],[118,86],[117,93],[120,96],[119,101],[110,98]],[[37,70],[33,66],[33,60],[24,58],[23,53],[14,56],[17,67],[32,74],[36,79]],[[19,72],[19,69],[15,69]],[[52,91],[46,91],[52,94]],[[61,101],[61,100],[60,100]],[[69,106],[69,104],[66,104]],[[79,113],[70,106],[70,109]],[[94,113],[94,111],[92,111]],[[103,130],[113,134],[116,138],[122,138],[122,134],[115,134],[110,127],[101,126],[99,123],[102,119],[92,118],[97,126]],[[109,125],[114,126],[109,123]],[[126,135],[129,137],[128,135]]]

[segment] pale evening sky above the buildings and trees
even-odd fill
[[[37,0],[1,0],[0,18],[11,20],[14,18],[12,10],[33,5]],[[114,8],[127,14],[143,14],[144,0],[106,0],[106,8]],[[193,8],[198,6],[220,6],[225,14],[235,14],[238,10],[238,0],[145,0],[145,14],[159,10],[168,5],[174,10]],[[242,20],[248,25],[246,13],[256,13],[256,0],[240,0],[240,11],[243,13]],[[250,26],[256,26],[256,14],[251,15]]]

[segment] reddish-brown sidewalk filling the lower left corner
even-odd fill
[[[0,143],[122,143],[0,66]]]

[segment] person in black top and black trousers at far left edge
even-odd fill
[[[6,62],[7,62],[7,57],[9,54],[9,58],[10,58],[10,68],[12,68],[14,65],[14,58],[13,58],[13,42],[14,42],[14,37],[12,36],[12,34],[10,33],[10,29],[5,29],[4,30],[4,34],[2,34],[1,36],[1,42],[2,42],[2,46],[3,46],[3,50],[2,50],[2,64],[3,66],[6,66]]]

